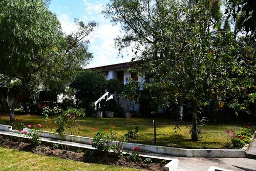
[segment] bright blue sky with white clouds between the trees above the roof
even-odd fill
[[[109,19],[101,14],[103,6],[108,4],[107,0],[52,0],[49,9],[57,14],[62,30],[66,33],[76,31],[74,18],[79,18],[84,23],[95,20],[98,27],[89,37],[91,43],[89,51],[93,53],[94,59],[86,68],[111,65],[131,60],[129,52],[118,57],[118,50],[114,47],[114,38],[120,34],[119,26],[112,26]]]

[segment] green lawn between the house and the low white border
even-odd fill
[[[48,125],[45,124],[41,116],[17,115],[15,119],[18,119],[18,121],[16,121],[17,123],[41,123],[46,131],[51,131],[51,122],[49,121]],[[8,115],[0,115],[0,120],[4,120],[7,124],[10,124]],[[139,138],[137,143],[153,145],[154,129],[152,120],[152,118],[85,117],[80,119],[79,122],[82,126],[76,135],[93,137],[96,132],[94,131],[95,127],[97,127],[98,130],[105,130],[109,129],[109,124],[114,124],[120,133],[127,132],[127,130],[134,130],[135,126],[139,126]],[[178,132],[178,139],[180,140],[180,147],[184,148],[225,148],[227,142],[226,130],[238,132],[247,124],[247,121],[206,123],[207,125],[204,126],[202,134],[200,135],[200,141],[191,141],[189,127],[187,127],[187,125],[191,124],[190,122],[177,122],[166,118],[154,120],[156,120],[157,125],[157,145],[178,147],[177,136],[173,130],[175,123],[178,123],[181,127],[181,131]],[[55,132],[55,130],[56,127],[53,125],[52,132]]]

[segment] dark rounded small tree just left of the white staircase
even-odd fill
[[[70,88],[75,90],[77,105],[89,110],[91,103],[105,93],[106,76],[100,71],[82,70],[77,73]]]

